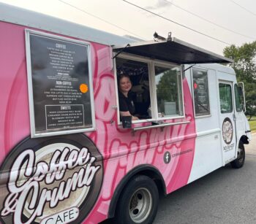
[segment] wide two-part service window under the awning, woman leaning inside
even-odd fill
[[[121,54],[116,77],[120,120],[124,111],[138,117],[133,123],[184,117],[181,66]]]

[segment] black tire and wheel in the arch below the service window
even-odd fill
[[[118,224],[153,223],[159,193],[154,181],[144,175],[132,178],[118,199],[115,222]]]

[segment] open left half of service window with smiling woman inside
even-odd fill
[[[124,112],[129,112],[127,115],[138,117],[138,120],[151,119],[149,71],[147,60],[124,55],[116,58],[120,118]]]

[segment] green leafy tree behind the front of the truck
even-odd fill
[[[238,82],[244,82],[246,115],[256,115],[256,42],[245,43],[241,47],[231,45],[223,51],[225,57],[233,58],[232,68]]]

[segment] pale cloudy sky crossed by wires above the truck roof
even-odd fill
[[[0,0],[120,36],[172,36],[223,55],[256,39],[254,0]],[[132,5],[133,4],[133,5]],[[136,5],[136,6],[135,6]],[[139,8],[140,7],[140,8]]]

